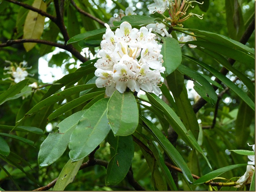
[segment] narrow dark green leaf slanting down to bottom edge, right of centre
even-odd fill
[[[156,158],[156,161],[159,164],[159,167],[162,170],[162,174],[165,176],[166,181],[167,181],[170,189],[173,190],[173,191],[177,191],[178,189],[177,189],[176,184],[173,180],[173,177],[170,173],[170,170],[168,169],[168,167],[164,163],[164,158],[163,158],[163,155],[162,155],[161,151],[159,150],[159,148],[156,146],[156,144],[153,141],[149,142],[149,148],[153,152],[153,155]],[[156,169],[158,170],[158,168],[156,168]],[[161,178],[159,178],[159,179],[161,179]],[[161,181],[160,181],[160,183],[161,183]],[[157,183],[156,185],[159,186],[160,183]],[[158,190],[161,189],[160,187],[162,187],[162,186],[159,186]]]

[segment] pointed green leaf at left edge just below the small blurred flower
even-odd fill
[[[10,87],[7,91],[3,92],[0,95],[0,105],[2,105],[5,101],[8,100],[8,98],[16,95],[17,93],[19,93],[25,86],[26,84],[29,82],[29,79],[24,79],[23,81],[13,85],[12,87]]]

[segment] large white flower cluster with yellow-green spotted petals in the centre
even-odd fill
[[[142,27],[138,30],[123,22],[114,33],[108,24],[105,26],[99,51],[102,58],[94,64],[97,87],[105,87],[107,96],[115,90],[123,93],[127,87],[131,91],[143,89],[159,94],[160,73],[165,68],[160,54],[162,45],[154,40],[152,29]]]

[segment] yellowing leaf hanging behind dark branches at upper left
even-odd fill
[[[46,4],[42,0],[35,0],[32,7],[46,11]],[[40,39],[45,24],[45,16],[40,15],[38,12],[29,10],[23,28],[23,39]],[[30,51],[36,43],[24,43],[26,51]]]

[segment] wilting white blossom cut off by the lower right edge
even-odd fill
[[[248,145],[249,145],[249,143],[248,143]],[[252,146],[252,149],[255,152],[255,145],[249,145],[249,146]],[[246,172],[244,173],[244,175],[242,177],[240,177],[239,180],[236,181],[236,184],[237,184],[235,186],[236,188],[239,188],[242,185],[252,183],[252,176],[255,171],[255,167],[254,167],[255,166],[255,156],[250,155],[250,156],[248,156],[248,158],[251,160],[251,161],[248,161],[248,164],[250,164],[250,165],[247,165]]]

